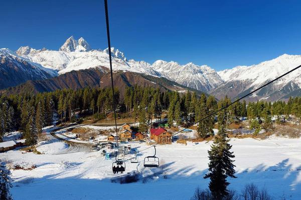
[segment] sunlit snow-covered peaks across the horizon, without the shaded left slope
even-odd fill
[[[108,49],[92,50],[83,38],[79,40],[75,40],[74,37],[68,38],[59,51],[36,50],[27,46],[21,47],[16,53],[45,68],[57,70],[59,74],[100,66],[109,68]],[[158,60],[149,64],[144,61],[127,60],[125,55],[115,48],[111,48],[111,53],[114,71],[164,77],[178,84],[208,92],[217,98],[228,95],[233,99],[301,64],[301,56],[284,54],[258,65],[237,66],[216,72],[207,65],[198,66],[193,63],[180,65],[173,61]],[[300,88],[301,72],[296,71],[258,91],[249,99],[276,100],[285,98]]]

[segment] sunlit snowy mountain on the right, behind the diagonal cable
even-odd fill
[[[211,94],[232,98],[242,96],[246,92],[271,81],[289,70],[301,65],[301,56],[284,54],[270,61],[252,66],[238,66],[218,72],[224,84],[211,91]],[[301,88],[301,70],[294,71],[271,85],[253,94],[251,100],[276,100]]]

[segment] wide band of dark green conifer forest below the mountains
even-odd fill
[[[81,117],[95,120],[105,119],[112,113],[112,99],[118,102],[117,117],[132,117],[139,122],[139,131],[147,131],[150,119],[166,118],[169,126],[189,126],[206,117],[217,109],[228,105],[228,97],[217,101],[214,96],[195,92],[179,93],[160,91],[159,88],[139,86],[126,88],[124,97],[120,97],[117,88],[114,97],[110,88],[84,88],[80,90],[64,89],[38,94],[15,94],[0,96],[0,139],[6,132],[21,130],[29,144],[37,142],[37,135],[42,128],[53,124],[54,114],[61,122],[75,122]],[[277,116],[275,123],[284,122],[289,115],[294,123],[301,116],[301,97],[291,97],[287,102],[257,101],[237,102],[225,112],[227,123],[239,122],[241,117],[248,117],[250,128],[259,132],[272,127],[272,116]],[[198,123],[200,137],[213,134],[216,117],[209,117]]]

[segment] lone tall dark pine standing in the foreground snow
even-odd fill
[[[204,176],[204,178],[210,178],[209,189],[213,199],[217,200],[229,194],[227,177],[236,178],[234,160],[232,160],[235,156],[230,151],[232,146],[228,143],[229,140],[226,139],[225,125],[222,122],[220,124],[222,125],[219,127],[219,132],[215,136],[211,150],[208,151],[209,172]]]

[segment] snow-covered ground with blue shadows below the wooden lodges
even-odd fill
[[[51,129],[49,129],[50,131]],[[44,154],[22,153],[11,150],[0,153],[8,165],[33,165],[33,170],[12,170],[14,199],[189,199],[197,186],[206,188],[208,179],[208,153],[212,142],[192,145],[173,143],[158,145],[162,175],[146,183],[111,183],[111,160],[98,152],[68,152],[68,145],[58,139],[40,142],[37,149]],[[229,179],[230,188],[240,189],[246,183],[264,187],[275,198],[300,199],[301,196],[301,139],[272,136],[265,140],[252,138],[230,142],[235,154],[236,176]],[[132,148],[144,149],[145,143],[132,142]],[[127,145],[127,144],[126,144]],[[140,152],[140,163],[126,161],[126,172],[136,169],[143,175],[152,174],[143,169],[141,160],[153,155],[150,148]],[[128,155],[125,158],[130,158]],[[152,169],[155,171],[155,169]],[[167,174],[167,179],[163,178]]]

